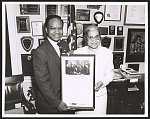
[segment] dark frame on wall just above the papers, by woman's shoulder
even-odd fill
[[[113,52],[113,63],[114,69],[120,68],[120,65],[123,64],[124,53],[123,52]]]

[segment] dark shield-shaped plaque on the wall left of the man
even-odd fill
[[[23,49],[29,52],[33,46],[33,38],[31,36],[24,36],[21,38],[21,44]]]

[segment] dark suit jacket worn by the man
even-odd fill
[[[37,84],[36,109],[38,113],[57,113],[61,100],[60,59],[46,40],[32,52],[34,76]]]

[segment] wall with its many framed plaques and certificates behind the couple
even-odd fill
[[[10,35],[10,51],[13,51],[11,55],[13,56],[12,62],[16,62],[19,64],[18,68],[15,67],[15,63],[12,64],[14,68],[13,74],[21,73],[22,68],[21,67],[21,60],[20,55],[31,53],[32,49],[38,47],[42,41],[44,41],[44,31],[43,31],[43,25],[45,22],[45,18],[48,15],[54,14],[59,15],[62,17],[64,21],[64,29],[63,29],[63,40],[67,39],[68,36],[68,13],[70,11],[68,5],[74,5],[75,10],[74,16],[75,16],[75,23],[78,27],[79,25],[81,28],[77,28],[78,33],[75,35],[76,41],[74,42],[74,46],[78,44],[77,47],[83,47],[85,44],[84,42],[84,29],[88,24],[96,24],[99,27],[99,30],[101,31],[102,38],[109,37],[111,40],[109,42],[103,43],[103,45],[110,50],[112,50],[113,53],[123,53],[123,64],[134,64],[139,63],[139,71],[144,71],[144,60],[138,58],[138,60],[131,58],[132,56],[128,53],[129,45],[133,46],[133,43],[129,40],[132,33],[128,34],[128,30],[130,29],[145,29],[145,26],[143,25],[144,20],[144,10],[146,11],[145,4],[141,5],[128,5],[128,4],[113,4],[110,5],[106,2],[106,4],[99,5],[99,3],[86,3],[83,4],[70,4],[69,2],[67,4],[61,3],[61,2],[49,2],[49,3],[40,3],[37,2],[36,4],[30,4],[30,3],[23,3],[23,4],[7,4],[7,16],[8,16],[8,29],[9,29],[9,35]],[[135,7],[134,7],[135,6]],[[140,7],[141,6],[141,7]],[[142,13],[140,17],[137,16],[137,14],[134,14],[134,11],[140,11]],[[96,22],[94,16],[96,13],[102,13],[99,18],[102,18],[102,21]],[[73,15],[73,14],[72,14]],[[137,20],[137,23],[135,21],[131,21],[133,19],[130,19],[130,16],[133,16],[135,18],[135,21]],[[97,20],[100,20],[97,18]],[[145,23],[144,23],[145,24]],[[132,32],[132,31],[131,31]],[[138,32],[138,31],[136,31]],[[75,33],[75,32],[72,32]],[[138,32],[139,33],[139,32]],[[22,48],[22,44],[20,42],[20,39],[23,36],[31,36],[34,40],[33,46],[29,51],[26,51]],[[82,43],[81,43],[82,42]],[[146,42],[146,40],[145,40]],[[146,43],[142,42],[143,44]],[[13,48],[16,48],[15,50]],[[72,46],[73,47],[73,46]],[[135,46],[137,48],[137,46]],[[133,48],[134,49],[134,48]],[[132,50],[133,51],[133,50]],[[15,53],[18,53],[16,55]],[[141,51],[142,52],[142,51]],[[135,55],[135,53],[133,53]],[[143,55],[137,55],[137,57],[140,57]],[[145,57],[144,57],[145,58]],[[18,60],[16,60],[18,59]],[[18,62],[17,62],[18,61]]]

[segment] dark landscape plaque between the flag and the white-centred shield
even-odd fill
[[[76,14],[77,21],[90,21],[90,10],[77,9]]]

